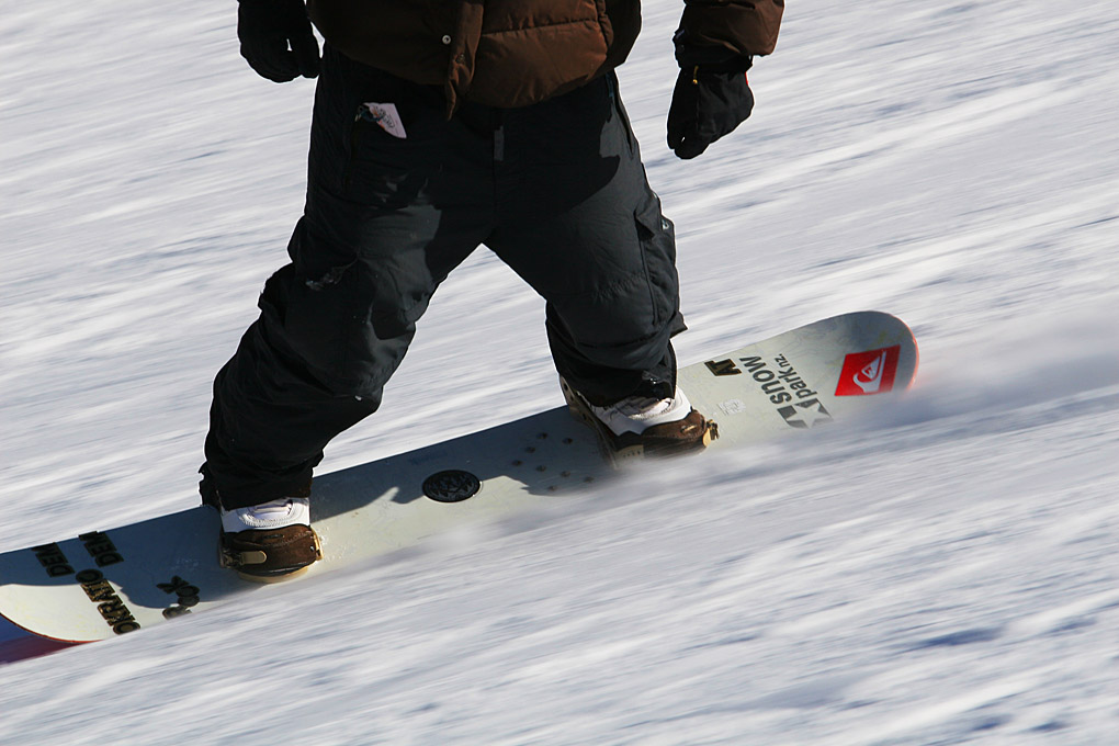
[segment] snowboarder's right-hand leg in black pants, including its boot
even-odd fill
[[[646,180],[617,81],[509,111],[504,130],[487,245],[547,301],[565,390],[606,419],[615,451],[637,435],[645,453],[703,447],[714,427],[676,390],[670,338],[684,322],[674,228]]]

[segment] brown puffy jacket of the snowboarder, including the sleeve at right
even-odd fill
[[[442,86],[463,100],[525,106],[624,62],[640,0],[308,0],[311,20],[348,57]],[[768,55],[784,0],[685,0],[689,44]]]

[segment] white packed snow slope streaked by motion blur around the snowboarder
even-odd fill
[[[0,743],[1119,743],[1119,6],[794,0],[753,117],[687,162],[681,3],[645,6],[619,74],[680,359],[878,309],[921,344],[908,399],[9,663]],[[0,550],[196,504],[313,93],[235,16],[0,15]],[[482,248],[323,470],[560,403],[543,303]]]

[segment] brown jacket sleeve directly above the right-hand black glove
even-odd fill
[[[739,56],[768,55],[777,46],[784,0],[684,0],[677,45],[722,47]]]

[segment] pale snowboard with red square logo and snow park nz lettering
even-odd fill
[[[715,355],[678,376],[692,405],[717,424],[708,451],[726,451],[881,407],[911,384],[916,366],[910,329],[863,311]],[[311,511],[323,559],[290,582],[555,504],[618,474],[594,431],[556,407],[320,475]],[[217,511],[198,506],[6,551],[0,616],[43,638],[92,642],[261,593],[266,586],[219,566],[218,531]]]

